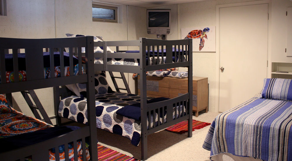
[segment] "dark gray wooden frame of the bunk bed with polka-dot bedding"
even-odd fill
[[[132,53],[124,53],[126,51],[119,50],[119,47],[127,47],[127,46],[138,46],[139,51],[132,52]],[[192,74],[191,74],[192,73],[192,40],[191,39],[157,40],[157,39],[140,38],[139,40],[130,40],[130,41],[94,42],[94,47],[103,48],[103,53],[94,53],[95,58],[97,59],[102,58],[103,60],[103,63],[94,64],[95,71],[109,71],[109,73],[120,72],[122,74],[123,73],[139,73],[140,74],[139,81],[141,84],[140,85],[140,91],[141,91],[141,94],[140,94],[141,130],[140,132],[141,134],[139,137],[141,138],[141,143],[142,143],[142,146],[141,146],[142,160],[147,160],[147,136],[152,133],[163,130],[181,121],[188,120],[188,137],[192,137]],[[117,49],[116,53],[107,52],[107,47],[115,47]],[[166,51],[161,52],[164,54],[161,54],[160,58],[159,56],[158,58],[156,58],[157,55],[159,54],[155,54],[154,52],[155,48],[157,51],[159,51],[159,49],[161,49],[161,51],[164,51],[165,49]],[[150,55],[150,52],[147,52],[147,51],[151,51],[152,49],[153,49],[153,52],[152,52],[152,55]],[[185,55],[184,55],[183,50],[185,50]],[[173,56],[175,58],[173,58]],[[151,57],[152,60],[158,59],[158,61],[156,61],[156,64],[155,64],[154,63],[155,61],[151,62],[150,59],[146,59],[146,57],[147,58]],[[131,65],[110,64],[108,60],[110,59],[113,60],[114,58],[140,59],[140,65],[131,66]],[[159,64],[159,59],[163,59],[165,61],[161,61],[161,64]],[[173,62],[173,59],[175,59],[176,61]],[[164,100],[161,102],[147,103],[146,71],[154,71],[154,70],[175,68],[175,67],[188,68],[188,73],[190,73],[188,74],[188,92],[178,97],[175,97],[173,99]],[[112,79],[113,79],[113,76],[112,76]],[[115,88],[117,91],[119,90],[116,85],[115,85]],[[129,92],[129,90],[127,91]],[[67,96],[67,94],[65,95]],[[178,117],[174,117],[174,111],[175,111],[175,116],[178,116]],[[156,113],[157,116],[162,116],[162,120],[164,121],[155,121],[155,117],[152,117],[153,113]],[[59,115],[62,115],[62,113],[59,113]],[[98,117],[97,117],[97,120],[98,120]],[[150,125],[149,128],[147,124]],[[108,131],[108,129],[105,129],[105,130]],[[139,141],[140,141],[140,138],[139,138]]]

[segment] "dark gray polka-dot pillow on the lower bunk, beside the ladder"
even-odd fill
[[[97,95],[104,95],[107,93],[114,93],[112,88],[109,87],[107,80],[105,78],[105,73],[95,74],[95,96]],[[77,87],[80,93],[80,97],[87,97],[86,96],[86,83],[77,83]]]

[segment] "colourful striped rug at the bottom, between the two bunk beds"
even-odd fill
[[[136,161],[134,157],[119,153],[115,150],[97,144],[97,153],[99,161]]]

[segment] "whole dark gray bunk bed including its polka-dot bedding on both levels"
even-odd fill
[[[119,50],[119,47],[128,46],[139,47],[139,50]],[[192,74],[188,75],[188,92],[185,94],[173,99],[149,99],[146,94],[147,71],[187,67],[188,73],[192,73],[191,39],[156,40],[140,38],[130,41],[98,41],[94,42],[94,47],[95,49],[96,47],[102,49],[102,52],[94,53],[95,71],[138,73],[140,74],[140,84],[142,84],[140,86],[140,96],[114,92],[108,87],[106,87],[108,90],[104,90],[104,93],[97,92],[95,104],[98,128],[125,136],[131,139],[131,143],[136,146],[141,140],[142,160],[147,159],[147,136],[152,133],[183,120],[188,120],[188,137],[192,137]],[[108,47],[115,47],[116,52],[107,52]],[[105,79],[105,74],[101,73],[95,76],[96,80],[101,77]],[[107,83],[103,84],[106,85]],[[61,89],[55,88],[57,95],[60,95],[59,91]],[[80,99],[80,101],[76,100],[74,102],[75,99]],[[60,103],[59,116],[78,121],[77,113],[84,115],[84,107],[81,110],[77,109],[73,114],[69,108],[82,105],[82,102],[86,102],[86,99],[77,98],[77,96],[68,97],[65,94],[65,98],[58,102]],[[129,113],[130,115],[128,115]],[[78,122],[86,124],[86,118],[80,119],[79,117]]]

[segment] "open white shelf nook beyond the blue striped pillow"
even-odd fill
[[[288,73],[278,73],[276,71],[286,71]],[[271,78],[292,79],[292,62],[272,62]]]

